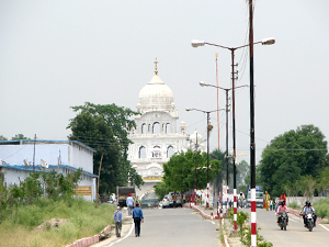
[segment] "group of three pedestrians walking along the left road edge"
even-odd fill
[[[135,236],[139,237],[140,235],[140,223],[144,223],[143,211],[139,207],[139,203],[135,203],[134,207],[134,198],[132,194],[128,194],[126,199],[126,204],[128,209],[128,215],[133,216],[134,224],[135,224]],[[114,222],[115,222],[115,234],[116,237],[121,237],[121,229],[122,229],[122,211],[120,206],[116,206],[116,211],[114,212]]]

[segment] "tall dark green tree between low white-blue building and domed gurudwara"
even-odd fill
[[[127,160],[127,130],[135,126],[128,117],[133,111],[115,104],[95,105],[87,102],[73,106],[77,116],[70,120],[68,128],[72,131],[71,141],[79,141],[97,150],[93,159],[93,171],[99,175],[100,161],[103,156],[100,194],[115,192],[116,186],[126,186],[127,181],[137,187],[143,183],[141,177]]]

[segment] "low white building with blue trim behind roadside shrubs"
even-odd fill
[[[93,175],[94,149],[78,141],[3,141],[0,142],[0,176],[4,186],[20,184],[31,172],[56,170],[67,175],[82,169],[79,187],[92,188],[86,200],[95,200]],[[33,165],[34,161],[34,165]]]

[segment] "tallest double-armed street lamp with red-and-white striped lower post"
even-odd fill
[[[273,37],[268,37],[268,38],[264,38],[260,42],[256,42],[256,43],[252,42],[250,47],[253,47],[253,45],[256,45],[256,44],[272,45],[274,43],[275,43],[275,40]],[[235,223],[235,231],[237,231],[238,226],[237,226],[237,179],[236,179],[237,164],[236,164],[236,120],[235,120],[236,119],[235,117],[235,113],[236,113],[236,111],[235,111],[235,50],[239,49],[239,48],[247,47],[247,46],[249,46],[249,44],[241,45],[241,46],[238,46],[238,47],[227,47],[227,46],[212,44],[212,43],[207,43],[207,42],[198,41],[198,40],[193,40],[192,41],[192,46],[193,47],[198,47],[198,46],[204,46],[204,45],[212,45],[212,46],[216,46],[216,47],[220,47],[220,48],[226,48],[226,49],[229,49],[230,53],[231,53],[231,85],[232,85],[231,86],[231,98],[232,98],[231,100],[232,100],[232,141],[234,141],[234,144],[232,144],[234,147],[232,148],[234,148],[234,162],[235,162],[234,164],[234,223]],[[253,64],[252,64],[252,66],[253,66]],[[252,75],[252,72],[250,72],[250,75]],[[252,90],[253,90],[253,85],[252,85]],[[252,90],[250,89],[250,94],[251,94],[251,92],[253,93]],[[253,94],[252,94],[252,97],[253,97]],[[253,100],[252,100],[252,104],[253,104]],[[252,111],[253,111],[253,109],[252,109]],[[251,122],[253,123],[253,120]],[[253,136],[253,133],[252,133],[252,136]],[[251,167],[251,170],[253,168]]]

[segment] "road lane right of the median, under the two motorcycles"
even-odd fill
[[[250,213],[250,209],[245,210]],[[257,227],[259,234],[274,246],[325,247],[329,246],[329,224],[318,224],[309,232],[304,227],[303,218],[288,214],[290,224],[286,231],[281,231],[273,211],[257,209]]]

